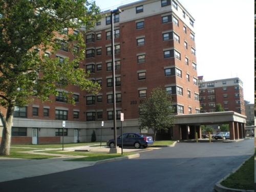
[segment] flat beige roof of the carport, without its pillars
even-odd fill
[[[174,124],[218,124],[236,121],[246,123],[246,116],[233,111],[175,115]]]

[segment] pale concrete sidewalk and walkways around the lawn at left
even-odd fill
[[[62,151],[62,148],[57,148],[57,149],[55,148],[55,149],[48,149],[48,150]],[[107,148],[105,146],[102,146],[102,147],[77,146],[77,147],[64,148],[64,151],[75,151],[75,150],[82,150],[82,151],[88,150],[89,152],[108,153],[110,151],[110,148]],[[40,150],[38,150],[37,148],[36,151],[38,154],[38,151]],[[41,151],[45,151],[45,149]],[[124,153],[136,152],[136,150],[128,148],[128,149],[123,149],[123,152]],[[23,153],[28,153],[28,151]],[[34,152],[33,150],[31,150],[29,153],[34,153]],[[81,153],[86,153],[86,152],[81,152]],[[45,155],[45,153],[42,153],[42,154]],[[54,155],[59,157],[41,159],[41,160],[0,157],[0,170],[1,170],[0,182],[58,173],[66,170],[92,166],[92,165],[103,163],[103,162],[111,162],[111,161],[118,161],[123,159],[139,157],[139,154],[135,154],[132,156],[125,156],[125,157],[102,160],[97,162],[86,162],[86,161],[79,162],[79,161],[64,161],[64,160],[80,158],[84,156],[71,156],[71,155],[48,154],[48,153],[47,155]]]

